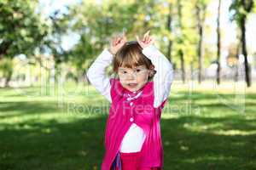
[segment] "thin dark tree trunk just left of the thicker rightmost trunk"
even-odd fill
[[[219,62],[219,58],[220,58],[220,26],[219,26],[219,20],[220,20],[220,6],[221,6],[221,0],[218,0],[218,18],[217,18],[217,83],[220,83],[220,62]]]

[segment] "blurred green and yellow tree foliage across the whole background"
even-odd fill
[[[142,36],[150,30],[156,39],[155,45],[164,54],[169,53],[169,43],[172,42],[171,58],[177,67],[180,51],[183,51],[185,68],[189,68],[191,64],[197,67],[197,44],[200,40],[198,23],[203,25],[205,37],[212,37],[212,31],[215,31],[212,27],[207,31],[204,23],[205,18],[212,15],[212,10],[207,8],[212,3],[211,0],[101,2],[82,0],[65,7],[65,14],[56,10],[49,18],[45,18],[40,14],[37,0],[1,0],[0,59],[14,58],[19,54],[33,58],[35,49],[40,49],[37,52],[53,57],[56,73],[61,71],[58,67],[64,64],[66,68],[72,67],[79,77],[102,49],[108,48],[113,35],[126,31],[128,40],[135,40],[136,35]],[[178,2],[182,5],[181,20],[178,17]],[[242,0],[233,0],[230,6],[232,20],[236,20],[238,24],[241,17],[255,10],[255,5],[254,8],[249,8],[251,0],[246,1],[246,7],[241,2]],[[197,15],[198,11],[200,13]],[[168,16],[172,18],[169,26]],[[62,47],[63,37],[70,34],[77,35],[79,41],[67,50]],[[212,44],[203,43],[203,64],[207,67],[215,58],[216,48],[212,48]],[[34,60],[38,62],[44,59]]]

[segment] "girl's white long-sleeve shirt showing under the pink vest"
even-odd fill
[[[172,64],[165,55],[150,45],[143,48],[143,54],[151,60],[156,71],[154,81],[154,107],[159,107],[164,100],[167,99],[170,93],[173,70]],[[109,53],[108,49],[104,49],[96,60],[90,65],[87,71],[87,77],[90,83],[106,98],[111,101],[110,96],[110,81],[109,77],[105,74],[105,70],[112,63],[113,55]],[[142,149],[144,139],[146,138],[143,128],[137,126],[136,123],[132,123],[131,127],[125,133],[125,137],[122,140],[120,146],[120,152],[130,153],[137,152]]]

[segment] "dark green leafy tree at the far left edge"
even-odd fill
[[[47,35],[48,27],[36,14],[36,5],[37,1],[30,0],[0,1],[0,60],[19,54],[30,57]],[[8,68],[6,86],[12,76]]]

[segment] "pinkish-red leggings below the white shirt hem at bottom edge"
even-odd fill
[[[122,170],[160,170],[160,167],[138,167],[141,152],[120,153]]]

